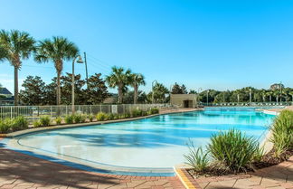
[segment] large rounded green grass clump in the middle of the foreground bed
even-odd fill
[[[213,135],[208,145],[213,159],[234,173],[250,169],[258,149],[259,143],[255,139],[235,129]]]

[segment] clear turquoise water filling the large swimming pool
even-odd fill
[[[237,128],[261,140],[274,116],[254,109],[206,109],[135,121],[34,133],[18,147],[75,161],[130,167],[172,167],[184,163],[189,139],[205,146],[220,130]],[[89,164],[88,164],[89,165]]]

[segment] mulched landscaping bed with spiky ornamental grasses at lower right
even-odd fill
[[[186,171],[194,178],[246,175],[287,161],[293,156],[293,111],[283,110],[269,129],[273,147],[267,154],[257,140],[236,129],[213,135],[206,151],[189,144],[184,156],[192,168]]]

